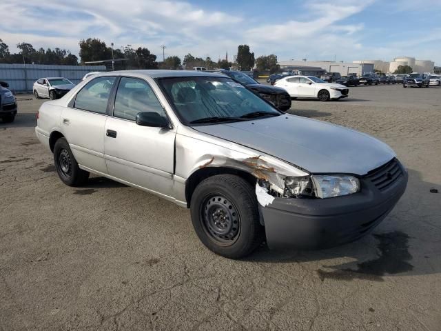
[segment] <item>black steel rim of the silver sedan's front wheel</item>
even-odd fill
[[[213,194],[201,204],[203,228],[210,239],[224,246],[235,243],[240,234],[240,217],[232,201]]]

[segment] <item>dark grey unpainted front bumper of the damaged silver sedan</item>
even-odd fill
[[[269,248],[328,248],[365,236],[396,205],[407,186],[407,171],[380,192],[361,179],[359,193],[330,199],[283,199],[259,206]]]

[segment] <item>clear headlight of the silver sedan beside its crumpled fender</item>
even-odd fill
[[[322,199],[360,192],[360,181],[345,174],[312,175],[311,180],[316,197]]]

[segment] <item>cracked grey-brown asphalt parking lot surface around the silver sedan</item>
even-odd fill
[[[367,237],[247,259],[209,252],[189,211],[93,177],[59,180],[34,134],[0,123],[0,330],[441,330],[441,88],[350,88],[290,112],[372,134],[409,170]],[[432,191],[432,192],[431,192]]]

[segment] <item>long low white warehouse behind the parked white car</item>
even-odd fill
[[[318,67],[327,72],[339,72],[342,76],[347,74],[357,74],[360,77],[362,74],[373,72],[373,63],[352,63],[352,62],[336,62],[336,61],[279,61],[280,69],[289,70],[293,67]]]

